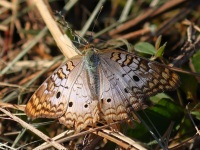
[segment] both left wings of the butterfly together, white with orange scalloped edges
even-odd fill
[[[92,96],[82,59],[72,59],[58,68],[36,90],[26,105],[31,118],[59,118],[77,131],[98,120],[97,98]]]

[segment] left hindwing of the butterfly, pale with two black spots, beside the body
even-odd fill
[[[88,74],[83,67],[71,89],[67,110],[59,121],[68,128],[75,127],[78,132],[88,125],[95,125],[97,120],[98,99],[91,93]]]

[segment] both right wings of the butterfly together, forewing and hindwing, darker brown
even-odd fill
[[[100,58],[100,106],[107,121],[125,119],[131,107],[143,109],[147,97],[179,85],[178,75],[157,62],[122,51]]]

